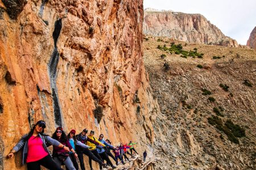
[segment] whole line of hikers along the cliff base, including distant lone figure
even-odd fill
[[[93,169],[92,160],[100,165],[100,169],[102,167],[108,168],[108,165],[114,169],[117,167],[110,161],[109,156],[118,165],[118,159],[122,164],[125,164],[123,158],[130,162],[126,154],[133,156],[133,151],[138,154],[134,148],[136,143],[130,141],[127,145],[121,143],[119,146],[113,146],[109,139],[104,140],[103,134],[100,134],[100,137],[96,139],[93,130],[90,131],[89,135],[86,135],[87,129],[76,135],[76,130],[72,129],[66,135],[63,128],[58,127],[52,137],[49,137],[49,135],[44,134],[44,128],[46,128],[46,122],[36,122],[31,131],[23,135],[7,156],[13,158],[14,153],[23,147],[22,162],[23,164],[27,163],[28,170],[40,170],[40,165],[47,169],[59,170],[62,169],[61,164],[65,164],[69,170],[78,170],[77,158],[81,170],[85,170],[83,155],[89,157],[90,169]],[[51,145],[53,146],[52,156],[47,149]],[[145,152],[143,153],[144,159],[146,158]]]

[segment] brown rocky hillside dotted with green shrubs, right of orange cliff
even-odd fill
[[[256,50],[151,36],[143,47],[156,169],[255,169]]]

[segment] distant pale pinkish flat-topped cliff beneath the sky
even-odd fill
[[[172,39],[205,44],[238,46],[237,41],[225,36],[203,15],[173,11],[144,11],[145,35],[167,36]]]

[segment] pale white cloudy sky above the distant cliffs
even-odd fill
[[[256,0],[143,0],[145,8],[202,14],[238,44],[246,45],[256,27]]]

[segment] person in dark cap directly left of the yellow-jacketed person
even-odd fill
[[[86,141],[90,141],[95,143],[96,145],[98,145],[99,143],[89,139],[88,137],[86,137],[86,133],[88,132],[87,129],[82,130],[82,132],[78,135],[76,135],[76,139],[77,141],[80,141],[82,143],[84,143],[86,145]],[[81,170],[85,170],[84,167],[84,156],[83,154],[87,155],[89,158],[91,158],[92,160],[94,160],[95,162],[99,163],[101,166],[105,166],[105,163],[102,163],[100,159],[98,159],[88,148],[83,148],[80,146],[76,146],[76,152],[79,158],[79,162],[80,162],[80,167]]]

